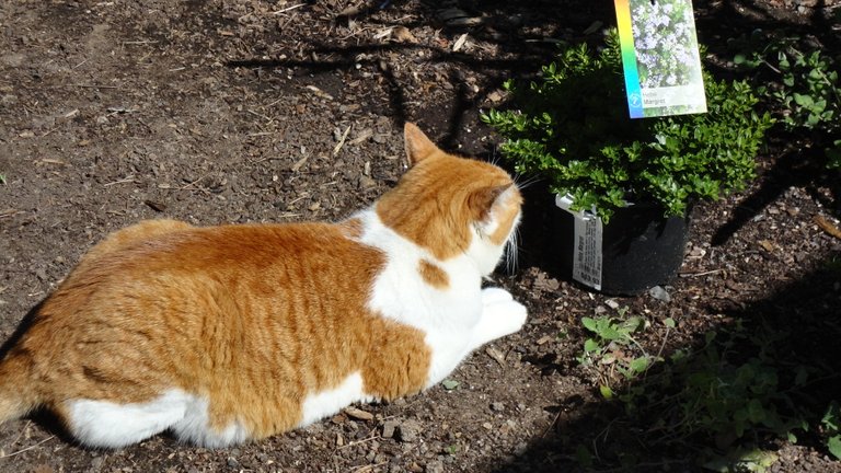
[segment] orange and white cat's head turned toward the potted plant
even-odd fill
[[[441,151],[413,124],[404,137],[411,169],[377,203],[380,219],[439,259],[466,255],[491,274],[520,220],[514,180],[496,165]]]

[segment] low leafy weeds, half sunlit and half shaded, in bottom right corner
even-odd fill
[[[737,319],[708,332],[700,346],[652,355],[636,338],[645,332],[650,343],[657,331],[648,331],[649,322],[629,315],[626,308],[583,318],[581,324],[589,336],[579,364],[596,370],[603,397],[621,403],[629,418],[646,419],[645,445],[691,445],[705,470],[765,471],[774,459],[758,448],[763,438],[797,442],[807,435],[841,459],[838,402],[822,417],[797,402],[809,383],[834,374],[780,357],[787,351],[786,334]],[[663,325],[665,345],[675,321]]]

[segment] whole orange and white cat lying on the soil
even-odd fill
[[[222,447],[441,381],[517,332],[526,308],[482,278],[520,219],[492,164],[405,127],[412,168],[338,223],[110,235],[0,361],[0,422],[45,407],[91,447],[170,429]]]

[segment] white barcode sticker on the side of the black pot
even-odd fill
[[[569,196],[555,196],[555,205],[573,215],[573,279],[601,290],[601,219],[587,210],[572,210]]]

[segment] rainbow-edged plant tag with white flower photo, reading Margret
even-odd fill
[[[631,118],[706,112],[692,0],[614,0]]]

